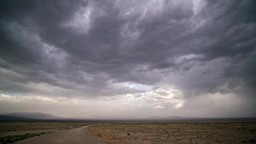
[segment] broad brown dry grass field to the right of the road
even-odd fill
[[[256,141],[256,123],[99,124],[88,128],[109,144],[239,144]]]

